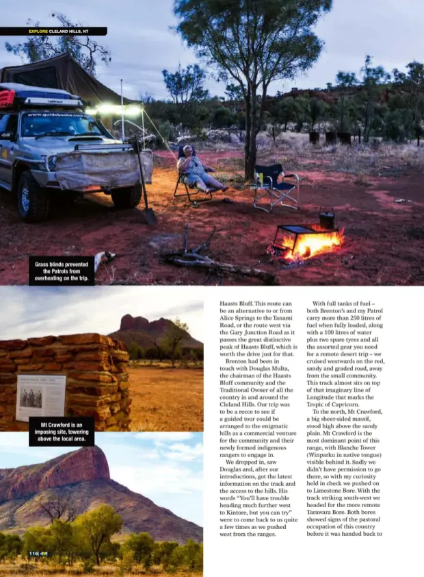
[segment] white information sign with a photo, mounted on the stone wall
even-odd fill
[[[18,375],[16,421],[65,416],[66,375]]]

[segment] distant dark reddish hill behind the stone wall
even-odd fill
[[[127,346],[131,343],[137,343],[140,347],[152,347],[153,343],[162,341],[165,334],[170,328],[175,328],[179,331],[172,321],[168,319],[159,319],[157,321],[148,321],[144,317],[132,317],[131,315],[124,315],[121,319],[119,330],[109,334],[112,339],[118,339]],[[183,339],[181,347],[183,349],[202,349],[203,343],[196,341],[186,331],[181,331]]]

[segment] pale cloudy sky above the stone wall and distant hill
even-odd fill
[[[0,339],[119,329],[126,315],[181,319],[204,342],[203,301],[194,286],[0,286]]]

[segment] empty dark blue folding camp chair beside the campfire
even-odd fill
[[[288,206],[289,208],[300,208],[300,190],[299,177],[297,174],[284,174],[282,164],[272,164],[269,167],[263,167],[259,164],[254,167],[256,173],[263,175],[263,182],[259,181],[252,185],[255,191],[253,206],[260,208],[265,212],[272,212],[276,204]],[[278,178],[282,175],[282,180]],[[286,179],[289,178],[289,182]],[[269,199],[269,208],[259,206],[258,202],[266,197]]]

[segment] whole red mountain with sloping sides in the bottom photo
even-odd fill
[[[49,524],[41,503],[61,499],[77,514],[100,504],[113,506],[124,521],[122,532],[149,532],[156,541],[203,540],[203,530],[143,495],[111,480],[105,454],[83,447],[40,465],[0,469],[0,531],[23,532]]]

